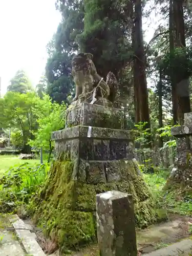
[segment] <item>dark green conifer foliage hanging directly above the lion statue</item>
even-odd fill
[[[84,1],[84,30],[77,41],[81,52],[94,55],[93,61],[102,77],[109,71],[119,75],[133,56],[127,39],[127,34],[131,34],[129,14],[118,0]]]

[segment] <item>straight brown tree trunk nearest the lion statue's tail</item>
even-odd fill
[[[139,114],[140,121],[147,122],[147,127],[150,127],[150,111],[148,108],[148,92],[145,72],[145,57],[144,57],[144,44],[143,44],[143,33],[142,33],[142,4],[141,0],[134,0],[135,7],[135,76],[138,84],[138,103],[139,103]]]

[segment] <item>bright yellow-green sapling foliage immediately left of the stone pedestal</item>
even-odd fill
[[[42,147],[44,151],[49,150],[51,154],[53,149],[51,134],[64,126],[65,110],[64,103],[61,105],[56,102],[52,103],[50,97],[45,94],[42,100],[37,102],[34,109],[37,116],[38,130],[33,132],[35,139],[30,140],[29,144],[38,149]]]

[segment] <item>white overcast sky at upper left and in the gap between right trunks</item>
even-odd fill
[[[10,79],[23,69],[35,86],[45,70],[46,45],[56,32],[61,15],[55,10],[55,0],[0,0],[0,76],[1,96]],[[143,22],[145,40],[154,34],[152,20]],[[154,24],[154,26],[152,26]],[[150,30],[148,26],[150,25]]]

